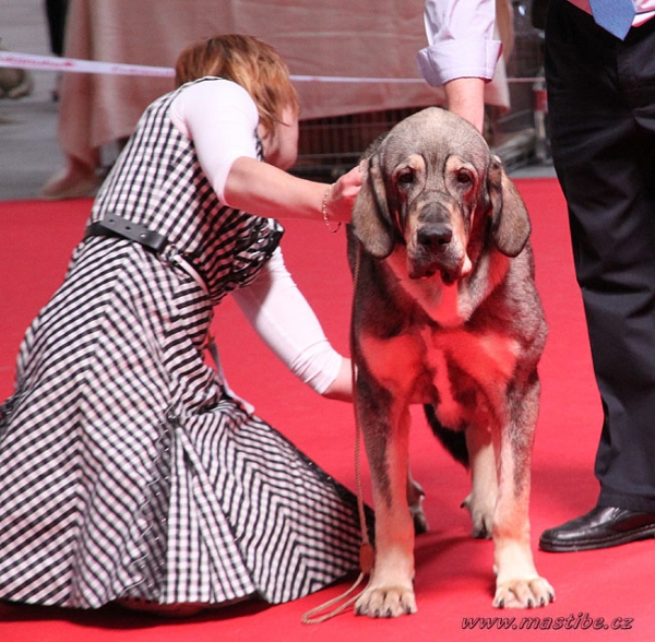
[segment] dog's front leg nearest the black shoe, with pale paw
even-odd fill
[[[531,455],[537,421],[539,384],[513,404],[514,416],[498,444],[499,487],[493,516],[496,595],[493,606],[532,608],[555,599],[552,586],[537,573],[529,539]]]

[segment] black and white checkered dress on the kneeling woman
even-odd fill
[[[357,567],[352,495],[204,364],[213,305],[281,229],[221,206],[166,116],[174,96],[145,112],[92,213],[168,247],[87,238],[21,346],[0,411],[2,599],[281,603]]]

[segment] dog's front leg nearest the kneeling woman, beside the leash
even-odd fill
[[[376,562],[355,610],[369,617],[416,613],[414,523],[406,492],[409,411],[389,396],[389,412],[381,412],[379,404],[360,403],[358,407],[371,467]]]

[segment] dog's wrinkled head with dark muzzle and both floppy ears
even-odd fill
[[[466,276],[474,228],[508,257],[527,241],[525,205],[500,160],[449,111],[430,107],[401,121],[371,145],[362,167],[354,233],[378,259],[404,245],[410,278],[440,272],[450,284]]]

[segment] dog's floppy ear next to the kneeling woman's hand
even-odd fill
[[[353,231],[367,252],[385,259],[393,250],[393,233],[379,154],[365,158],[364,168],[364,183],[353,207]]]

